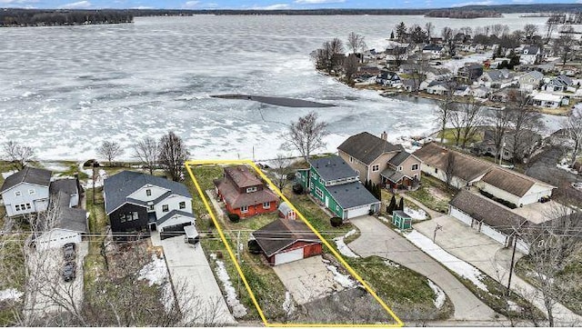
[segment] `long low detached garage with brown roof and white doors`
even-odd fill
[[[466,190],[460,190],[451,200],[448,214],[475,227],[504,247],[512,243],[517,229],[529,223],[508,208]]]

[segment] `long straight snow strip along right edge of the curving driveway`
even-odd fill
[[[452,254],[448,254],[447,251],[433,243],[425,235],[418,233],[416,230],[412,230],[404,236],[410,242],[422,249],[422,251],[424,251],[426,254],[435,258],[440,264],[447,266],[448,269],[455,272],[456,274],[467,278],[480,289],[488,291],[487,285],[481,282],[483,274],[475,266],[468,264],[461,259],[458,259]]]

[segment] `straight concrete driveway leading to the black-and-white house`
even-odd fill
[[[157,232],[152,234],[152,243],[164,248],[174,286],[186,287],[187,300],[179,299],[180,309],[188,313],[186,322],[199,326],[236,324],[201,245],[186,244],[184,236],[160,240]]]

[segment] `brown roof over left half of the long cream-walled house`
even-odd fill
[[[452,152],[455,161],[455,175],[459,178],[472,181],[480,175],[487,174],[487,172],[494,165],[482,160],[478,160],[472,156],[464,155],[457,151],[448,150],[436,143],[429,143],[422,148],[416,150],[413,155],[416,155],[423,163],[440,170],[445,170],[447,167],[447,155]]]

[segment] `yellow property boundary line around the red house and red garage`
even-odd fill
[[[202,198],[202,202],[206,206],[206,210],[208,211],[208,214],[210,214],[210,217],[212,218],[212,221],[214,222],[216,229],[218,230],[218,234],[220,235],[220,238],[222,239],[223,243],[226,246],[226,250],[228,251],[228,254],[230,254],[230,258],[233,260],[233,263],[235,264],[236,271],[238,272],[240,277],[243,279],[243,283],[246,286],[246,290],[248,291],[248,294],[250,295],[251,300],[255,304],[256,310],[258,311],[258,314],[261,316],[263,323],[267,327],[401,327],[404,325],[404,323],[398,318],[398,316],[396,316],[396,314],[394,314],[394,312],[392,312],[390,307],[388,307],[386,305],[386,303],[384,303],[384,301],[380,297],[378,297],[378,295],[374,292],[374,290],[372,290],[372,288],[366,283],[366,281],[364,281],[364,279],[359,274],[356,273],[356,271],[352,268],[352,266],[350,266],[349,264],[346,263],[346,260],[344,260],[344,257],[342,257],[341,254],[336,252],[336,248],[332,247],[332,245],[329,244],[327,242],[327,240],[321,234],[319,234],[319,232],[316,230],[316,228],[313,227],[309,223],[309,221],[306,220],[306,218],[303,216],[303,214],[301,214],[296,209],[295,205],[293,205],[291,202],[289,202],[289,200],[287,200],[286,196],[283,195],[283,193],[281,193],[281,191],[276,187],[276,185],[271,182],[271,180],[266,176],[266,174],[264,174],[255,165],[254,162],[252,162],[251,160],[196,160],[196,161],[186,161],[185,165],[186,165],[186,170],[188,171],[188,174],[190,174],[190,177],[192,178],[192,181],[194,182],[194,184],[196,186],[196,190],[198,191],[198,194],[200,194],[200,197]],[[266,181],[266,183],[269,184],[271,189],[277,195],[279,195],[279,197],[281,197],[281,199],[283,199],[283,201],[285,201],[296,212],[296,214],[299,215],[299,217],[303,220],[303,222],[317,235],[317,237],[324,244],[326,244],[327,249],[329,249],[331,251],[331,253],[334,254],[336,259],[342,265],[344,265],[344,267],[349,272],[349,274],[352,274],[352,276],[354,276],[356,278],[356,280],[360,284],[362,284],[364,286],[364,288],[366,288],[366,291],[376,299],[376,302],[378,302],[378,304],[380,304],[382,307],[384,307],[386,312],[388,314],[390,314],[390,316],[392,316],[392,318],[396,321],[396,324],[270,324],[270,323],[268,323],[266,321],[266,316],[263,313],[263,310],[261,309],[261,306],[258,304],[258,302],[256,302],[256,297],[255,297],[255,294],[253,294],[253,290],[251,289],[250,285],[246,281],[245,274],[243,274],[243,271],[241,270],[240,265],[238,264],[238,262],[236,262],[236,255],[235,255],[235,253],[233,253],[233,251],[230,247],[230,244],[228,244],[228,242],[226,241],[226,236],[223,233],[222,228],[220,227],[220,224],[216,220],[216,215],[214,214],[212,207],[206,201],[206,196],[204,195],[204,191],[200,187],[200,184],[198,184],[198,181],[196,181],[196,177],[195,177],[194,173],[192,172],[190,165],[250,165],[251,167],[253,167],[253,169],[255,169],[255,171],[261,176],[261,178],[263,178]]]

